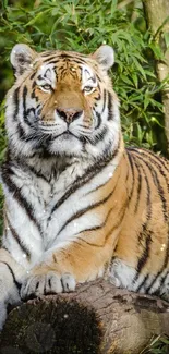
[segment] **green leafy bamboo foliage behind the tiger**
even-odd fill
[[[95,51],[101,44],[114,48],[110,73],[121,101],[126,145],[167,155],[161,88],[155,63],[162,53],[149,33],[142,1],[2,0],[0,4],[0,162],[5,154],[4,95],[13,83],[9,56],[16,42],[44,49]],[[166,47],[169,44],[166,42]],[[2,229],[2,194],[0,193]],[[169,353],[166,338],[154,340],[144,353]]]

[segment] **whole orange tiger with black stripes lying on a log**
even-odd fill
[[[0,328],[7,304],[97,278],[169,301],[169,162],[124,146],[113,49],[10,58]]]

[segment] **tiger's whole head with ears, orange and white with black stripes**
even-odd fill
[[[11,53],[16,81],[7,97],[7,130],[16,154],[101,157],[120,138],[118,99],[107,74],[113,50],[93,56],[36,53],[16,45]]]

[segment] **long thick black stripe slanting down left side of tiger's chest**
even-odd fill
[[[40,225],[34,217],[34,207],[22,196],[21,190],[17,188],[17,186],[12,181],[11,176],[14,175],[14,171],[11,169],[9,163],[7,162],[2,164],[3,183],[8,186],[9,192],[12,194],[13,198],[16,199],[19,205],[25,209],[28,218],[34,222],[34,224],[37,227],[38,231],[41,234]]]

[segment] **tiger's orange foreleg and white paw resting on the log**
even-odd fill
[[[21,297],[73,291],[76,282],[102,277],[111,258],[112,245],[98,247],[83,241],[79,239],[48,252],[45,260],[32,269],[31,277],[23,283]]]

